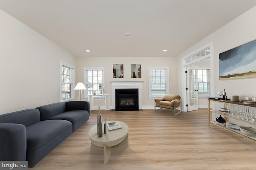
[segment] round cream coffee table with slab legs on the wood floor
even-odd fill
[[[106,121],[106,123],[110,123],[114,121]],[[122,121],[118,121],[122,128],[114,129],[109,131],[108,127],[107,133],[104,134],[104,122],[102,122],[102,137],[99,137],[97,134],[97,125],[92,127],[89,131],[89,138],[91,140],[91,147],[103,147],[103,158],[104,164],[108,162],[108,159],[111,154],[111,149],[116,147],[128,147],[128,125]]]

